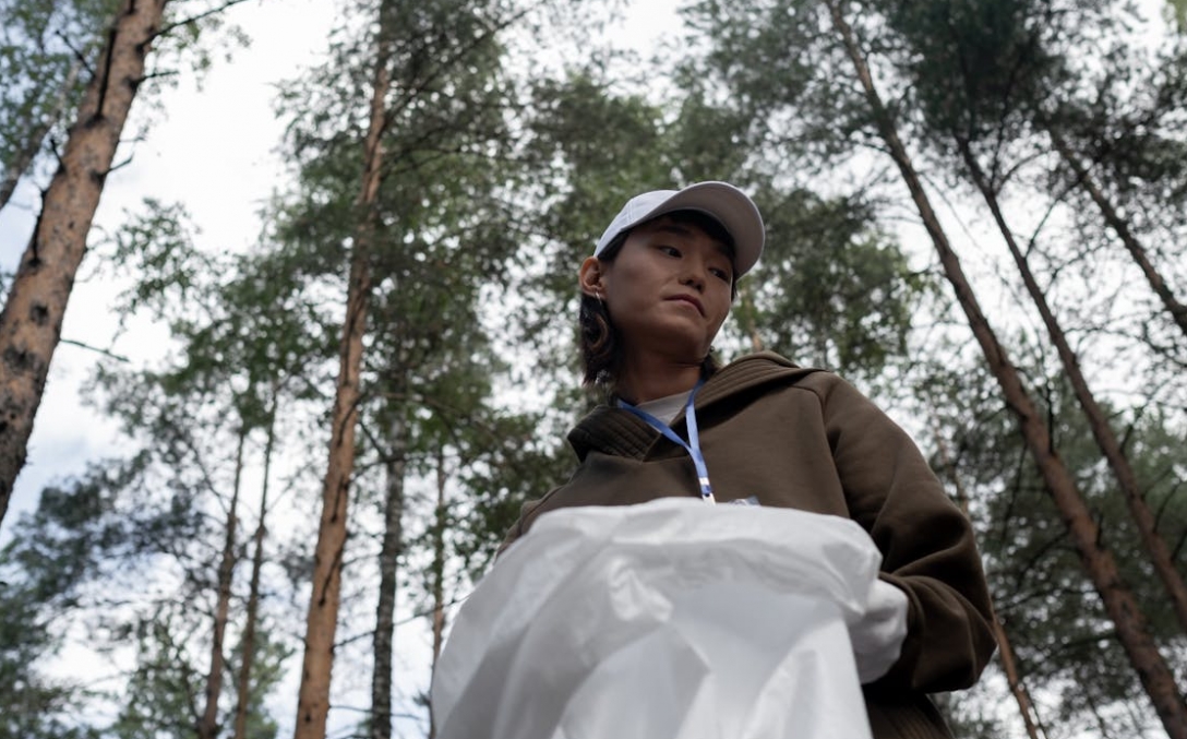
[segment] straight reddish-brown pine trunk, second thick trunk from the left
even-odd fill
[[[370,122],[363,157],[362,187],[357,200],[358,226],[350,255],[347,316],[338,355],[338,384],[331,413],[330,453],[322,488],[322,519],[313,551],[313,582],[305,624],[305,657],[297,701],[294,739],[325,739],[330,709],[330,672],[334,668],[334,634],[342,589],[342,554],[347,542],[347,501],[355,467],[355,424],[358,419],[358,377],[362,368],[363,334],[372,293],[370,251],[375,236],[375,197],[383,163],[385,100],[391,87],[391,10],[381,2],[372,90]]]

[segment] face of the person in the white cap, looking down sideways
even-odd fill
[[[635,227],[611,261],[586,259],[580,279],[605,301],[627,352],[699,364],[729,314],[734,263],[700,228],[660,216]]]

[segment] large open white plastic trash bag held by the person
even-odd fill
[[[869,739],[846,624],[881,558],[856,523],[789,509],[546,513],[458,612],[437,737]]]

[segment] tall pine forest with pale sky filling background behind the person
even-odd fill
[[[839,373],[973,523],[958,739],[1187,739],[1187,1],[332,5],[229,242],[129,179],[285,0],[0,0],[0,739],[433,737],[601,399],[577,267],[709,179],[767,226],[716,353]],[[112,451],[23,488],[62,408]]]

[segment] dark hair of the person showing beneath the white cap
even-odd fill
[[[724,244],[729,248],[730,259],[734,259],[734,236],[725,230],[725,227],[717,219],[707,213],[700,210],[673,210],[656,217],[668,217],[677,223],[699,228],[710,239]],[[598,255],[598,260],[603,263],[614,261],[618,252],[622,251],[622,245],[626,244],[629,234],[630,229],[615,236],[614,241]],[[730,285],[730,297],[732,298],[736,295],[737,278],[735,277],[734,283]],[[591,295],[582,293],[577,326],[580,330],[582,364],[585,370],[582,384],[585,386],[601,385],[612,392],[622,365],[622,339],[618,336],[618,329],[610,322],[610,312],[607,310],[605,303]],[[719,366],[717,358],[713,356],[712,349],[710,349],[709,354],[702,361],[702,373],[709,377],[713,372],[717,372]]]

